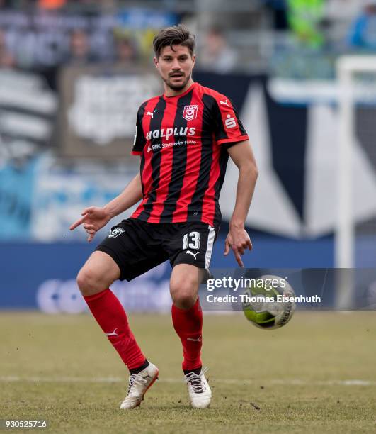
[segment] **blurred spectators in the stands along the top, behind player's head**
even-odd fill
[[[244,11],[225,19],[226,2],[212,0],[206,3],[218,11],[206,21],[194,12],[199,2],[187,1],[184,10],[177,0],[137,7],[115,0],[0,0],[0,67],[42,72],[54,87],[62,65],[150,65],[158,28],[181,21],[198,35],[198,67],[218,73],[278,69],[281,55],[288,59],[297,50],[332,56],[376,49],[376,0],[244,1]]]

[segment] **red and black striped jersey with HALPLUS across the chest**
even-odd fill
[[[198,83],[145,101],[132,149],[141,155],[143,200],[132,218],[219,225],[227,148],[247,139],[231,101]]]

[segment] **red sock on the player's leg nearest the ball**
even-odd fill
[[[193,370],[202,366],[201,347],[203,333],[203,311],[200,300],[188,310],[172,305],[172,323],[183,345],[183,370]]]

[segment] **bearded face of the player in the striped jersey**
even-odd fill
[[[154,57],[154,65],[166,86],[180,91],[192,77],[195,55],[191,56],[188,47],[183,45],[173,45],[172,48],[173,50],[171,47],[162,48],[159,58]]]

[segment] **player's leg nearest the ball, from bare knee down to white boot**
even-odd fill
[[[173,328],[183,345],[183,371],[188,385],[190,403],[194,408],[207,408],[212,398],[205,369],[201,362],[203,311],[198,299],[198,286],[205,270],[189,264],[173,267],[170,292]]]

